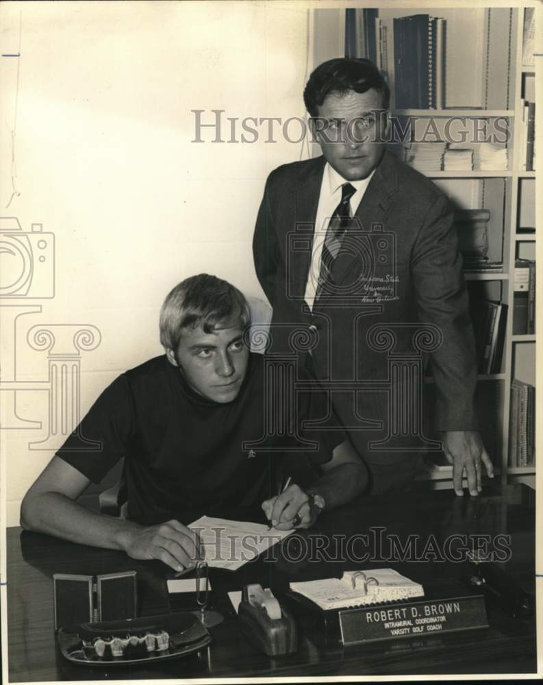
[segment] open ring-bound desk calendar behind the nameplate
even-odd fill
[[[362,576],[367,579],[366,588],[364,588]],[[409,580],[393,569],[375,569],[363,573],[345,571],[341,578],[290,583],[290,589],[310,599],[323,610],[368,606],[409,599],[409,597],[424,597],[422,585]]]

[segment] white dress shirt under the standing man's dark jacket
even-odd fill
[[[315,293],[318,286],[318,275],[320,273],[320,256],[323,253],[323,245],[325,242],[328,224],[330,223],[333,212],[336,210],[336,207],[341,201],[341,187],[344,183],[350,183],[353,188],[356,188],[356,192],[353,193],[351,200],[349,201],[351,206],[351,216],[354,216],[374,173],[375,169],[367,178],[363,178],[360,181],[347,181],[338,174],[336,169],[332,169],[328,162],[325,165],[323,181],[320,184],[320,195],[318,196],[310,271],[307,275],[307,284],[305,284],[304,297],[310,309],[313,309],[313,304],[315,301]]]

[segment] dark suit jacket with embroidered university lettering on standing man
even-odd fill
[[[414,325],[428,324],[429,338],[442,336],[431,353],[435,425],[475,429],[475,341],[449,202],[425,176],[383,153],[356,212],[359,228],[349,231],[334,263],[342,290],[323,295],[309,312],[303,296],[324,168],[323,157],[285,164],[266,182],[253,254],[273,306],[273,349],[288,349],[278,324],[314,325],[318,378],[379,381],[388,377],[390,352],[427,349]],[[357,393],[357,414],[382,419],[385,402],[382,392]]]

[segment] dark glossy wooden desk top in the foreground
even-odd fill
[[[535,673],[535,619],[511,619],[491,603],[487,603],[490,628],[485,630],[333,648],[318,647],[308,636],[303,636],[297,653],[270,658],[258,653],[242,636],[226,595],[227,590],[240,590],[250,582],[280,588],[289,580],[340,576],[345,569],[371,567],[392,567],[429,590],[443,583],[455,583],[468,571],[465,562],[435,560],[433,552],[437,549],[439,558],[451,535],[468,536],[469,546],[477,539],[475,536],[491,536],[494,540],[498,534],[510,536],[512,558],[505,569],[527,592],[535,595],[534,500],[533,491],[522,485],[507,486],[503,490],[496,486],[483,491],[479,499],[459,499],[451,491],[428,492],[417,488],[410,497],[359,499],[327,512],[320,517],[318,528],[307,534],[307,538],[301,538],[307,542],[308,555],[298,561],[292,558],[287,561],[279,553],[274,560],[250,562],[235,573],[210,569],[216,595],[214,608],[225,615],[223,623],[210,629],[214,638],[210,647],[198,655],[160,664],[160,667],[137,669],[76,667],[62,658],[53,632],[52,576],[53,573],[90,575],[135,569],[140,614],[151,615],[170,610],[166,566],[160,562],[136,562],[121,552],[74,545],[10,528],[7,532],[10,682],[233,675],[276,678]],[[368,538],[355,540],[353,536],[359,534]],[[407,543],[409,535],[419,536],[411,538],[418,560],[389,560],[393,535],[398,536],[402,545]],[[455,542],[462,543],[463,539],[466,538],[455,538]],[[351,540],[350,547],[344,544],[345,540]],[[509,545],[509,538],[502,538],[502,547],[503,540]],[[305,543],[300,545],[305,547]],[[364,554],[369,555],[370,561],[362,560]],[[312,555],[311,561],[308,561],[309,555]],[[373,561],[377,556],[380,560]]]

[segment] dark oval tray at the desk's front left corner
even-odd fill
[[[147,651],[144,644],[134,648],[127,645],[122,656],[112,656],[106,648],[103,656],[94,652],[94,647],[84,645],[95,638],[110,640],[126,638],[130,635],[142,636],[146,633],[168,633],[168,648],[163,651]],[[176,659],[200,651],[211,642],[211,635],[201,621],[190,612],[143,616],[140,619],[123,621],[103,621],[101,623],[79,623],[60,628],[58,644],[62,656],[74,664],[86,666],[124,666],[127,664],[149,664]]]

